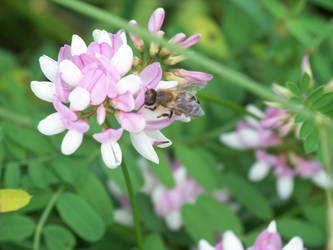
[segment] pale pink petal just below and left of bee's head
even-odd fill
[[[144,129],[146,122],[141,113],[118,112],[121,127],[130,132],[139,132]]]

